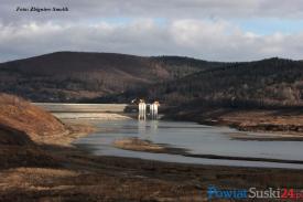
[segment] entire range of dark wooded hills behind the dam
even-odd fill
[[[57,52],[0,64],[0,92],[34,102],[303,105],[303,61],[217,63],[181,56]]]

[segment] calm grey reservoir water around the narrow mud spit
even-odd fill
[[[203,126],[195,123],[163,120],[91,120],[97,131],[76,140],[91,149],[98,156],[131,157],[166,162],[219,164],[236,167],[292,168],[303,169],[299,163],[280,163],[268,161],[246,161],[205,159],[184,157],[182,155],[151,153],[130,151],[112,147],[112,142],[122,138],[140,138],[169,147],[184,148],[193,155],[216,155],[228,157],[267,158],[282,160],[303,160],[303,141],[256,141],[235,140],[230,132],[240,132],[228,127]]]

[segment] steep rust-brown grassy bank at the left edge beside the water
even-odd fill
[[[0,169],[57,163],[37,145],[68,130],[52,115],[22,98],[0,94]]]

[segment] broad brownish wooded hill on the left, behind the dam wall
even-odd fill
[[[0,64],[0,92],[34,102],[79,102],[224,65],[178,56],[57,52]]]

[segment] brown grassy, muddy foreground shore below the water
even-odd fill
[[[302,170],[94,156],[71,145],[72,140],[89,135],[91,128],[73,127],[75,132],[39,143],[55,164],[0,170],[0,201],[188,202],[207,201],[210,184],[221,189],[303,188]]]

